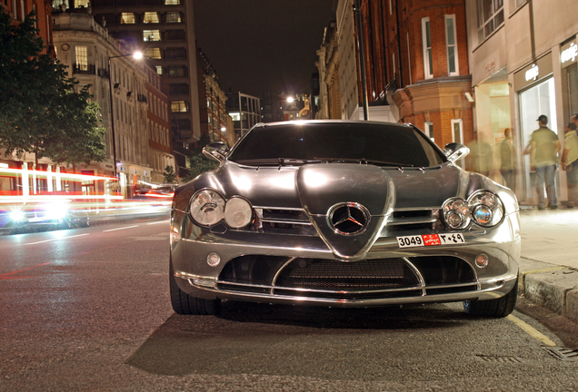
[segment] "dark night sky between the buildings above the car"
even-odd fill
[[[334,0],[194,0],[197,47],[225,93],[309,93]]]

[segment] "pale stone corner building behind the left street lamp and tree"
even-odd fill
[[[108,131],[108,159],[93,162],[85,171],[113,176],[116,157],[121,194],[130,198],[141,181],[153,181],[153,167],[149,163],[146,65],[135,60],[130,55],[130,46],[127,49],[124,42],[111,37],[92,15],[61,12],[53,18],[58,60],[68,66],[80,86],[90,84],[90,93],[102,109],[103,125]]]

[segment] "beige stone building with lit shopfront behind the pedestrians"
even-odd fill
[[[546,115],[563,144],[563,126],[578,113],[578,10],[570,0],[467,0],[466,10],[475,126],[493,140],[494,150],[504,129],[512,128],[515,191],[521,202],[533,204],[537,193],[523,151],[536,120]],[[499,154],[494,158],[499,168]],[[565,172],[556,171],[563,201],[565,185]]]

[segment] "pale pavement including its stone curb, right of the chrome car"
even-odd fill
[[[519,293],[578,322],[578,209],[524,209],[520,218]]]

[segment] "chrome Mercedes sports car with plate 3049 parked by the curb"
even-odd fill
[[[455,162],[413,125],[258,124],[171,212],[174,311],[222,299],[327,307],[463,301],[503,317],[516,301],[512,191]]]

